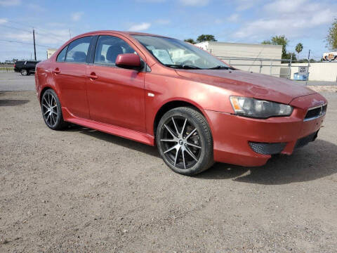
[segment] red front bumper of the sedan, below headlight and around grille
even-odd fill
[[[291,116],[269,119],[252,119],[206,110],[213,134],[214,160],[247,167],[265,164],[271,155],[263,151],[255,152],[253,149],[261,150],[261,146],[254,144],[252,148],[252,143],[270,143],[267,150],[271,150],[271,153],[267,154],[291,155],[295,148],[300,147],[300,140],[306,143],[315,140],[325,115],[309,121],[304,121],[304,118],[308,109],[317,103],[326,103],[318,93],[296,98],[291,102],[294,107]]]

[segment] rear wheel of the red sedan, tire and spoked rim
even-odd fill
[[[68,126],[63,120],[60,100],[53,89],[47,89],[41,98],[41,112],[46,125],[53,130],[62,130]]]

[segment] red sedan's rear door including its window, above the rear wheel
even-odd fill
[[[89,118],[86,69],[92,38],[82,37],[72,41],[58,54],[52,67],[55,83],[61,93],[62,107],[75,117],[84,119]]]

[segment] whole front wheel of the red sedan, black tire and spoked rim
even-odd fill
[[[176,173],[192,176],[213,165],[211,130],[199,111],[169,110],[161,117],[156,135],[161,158]]]

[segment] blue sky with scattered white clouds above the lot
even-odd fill
[[[0,0],[0,61],[31,57],[32,27],[40,60],[46,58],[47,47],[58,48],[70,34],[93,30],[133,30],[177,39],[213,34],[218,41],[242,43],[284,34],[290,41],[288,51],[302,42],[300,58],[307,57],[309,49],[320,58],[328,51],[324,38],[336,10],[336,0]]]

